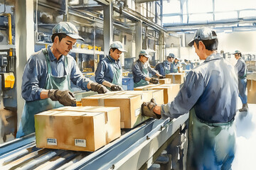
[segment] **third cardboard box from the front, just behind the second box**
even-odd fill
[[[152,90],[164,90],[164,104],[174,101],[180,90],[179,84],[161,84],[160,86],[154,86],[149,89]],[[148,89],[148,90],[149,90]]]

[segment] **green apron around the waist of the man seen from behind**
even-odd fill
[[[188,124],[187,169],[230,169],[235,157],[235,125],[203,123],[192,109]]]

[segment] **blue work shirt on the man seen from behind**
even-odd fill
[[[208,123],[226,123],[235,117],[238,76],[220,54],[213,54],[188,72],[186,81],[171,103],[161,106],[163,118],[178,118],[191,108]]]

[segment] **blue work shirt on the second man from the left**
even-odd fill
[[[113,67],[114,66],[114,67]],[[121,62],[119,60],[114,60],[110,55],[104,57],[97,64],[97,69],[95,71],[95,81],[102,84],[103,81],[109,81],[112,83],[114,77],[114,68],[122,69]]]

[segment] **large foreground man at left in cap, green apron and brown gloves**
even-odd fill
[[[53,45],[29,58],[22,77],[21,95],[25,105],[16,137],[35,132],[34,115],[52,108],[76,106],[70,81],[85,91],[104,94],[105,86],[90,81],[68,55],[77,40],[83,40],[72,23],[60,22],[53,28]]]

